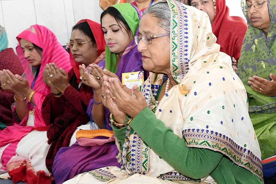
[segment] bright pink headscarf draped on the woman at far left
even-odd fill
[[[41,105],[44,101],[45,96],[51,92],[51,89],[43,82],[43,71],[46,64],[55,63],[58,67],[63,68],[63,70],[68,73],[71,70],[69,53],[58,42],[54,33],[52,33],[52,31],[42,25],[32,25],[29,29],[26,29],[25,31],[20,33],[17,36],[19,45],[16,48],[16,52],[24,69],[26,79],[29,82],[30,87],[33,84],[35,76],[33,75],[32,68],[30,67],[29,62],[24,56],[23,49],[20,46],[20,39],[28,40],[43,49],[39,74],[33,86],[33,90],[36,91],[33,99],[35,101],[34,126],[45,126],[41,115]],[[28,105],[28,107],[29,110],[32,109],[32,105]],[[21,125],[26,125],[27,120],[28,115],[24,118],[24,120],[22,120]]]

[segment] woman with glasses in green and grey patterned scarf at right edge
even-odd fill
[[[262,159],[276,155],[276,2],[242,0],[248,22],[237,74],[248,96]]]

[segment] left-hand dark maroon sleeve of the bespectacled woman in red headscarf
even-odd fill
[[[55,97],[52,94],[48,94],[41,106],[42,118],[46,125],[50,125],[56,117],[63,114],[64,111],[64,96],[60,98]]]

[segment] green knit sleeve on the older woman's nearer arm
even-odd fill
[[[188,148],[186,140],[175,135],[148,107],[132,120],[130,126],[157,155],[187,177],[200,179],[208,176],[223,157],[209,149]]]

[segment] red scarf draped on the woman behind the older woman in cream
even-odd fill
[[[220,44],[220,51],[238,60],[247,30],[246,21],[241,17],[230,17],[225,0],[216,0],[214,3],[216,15],[212,29],[217,37],[217,43]]]

